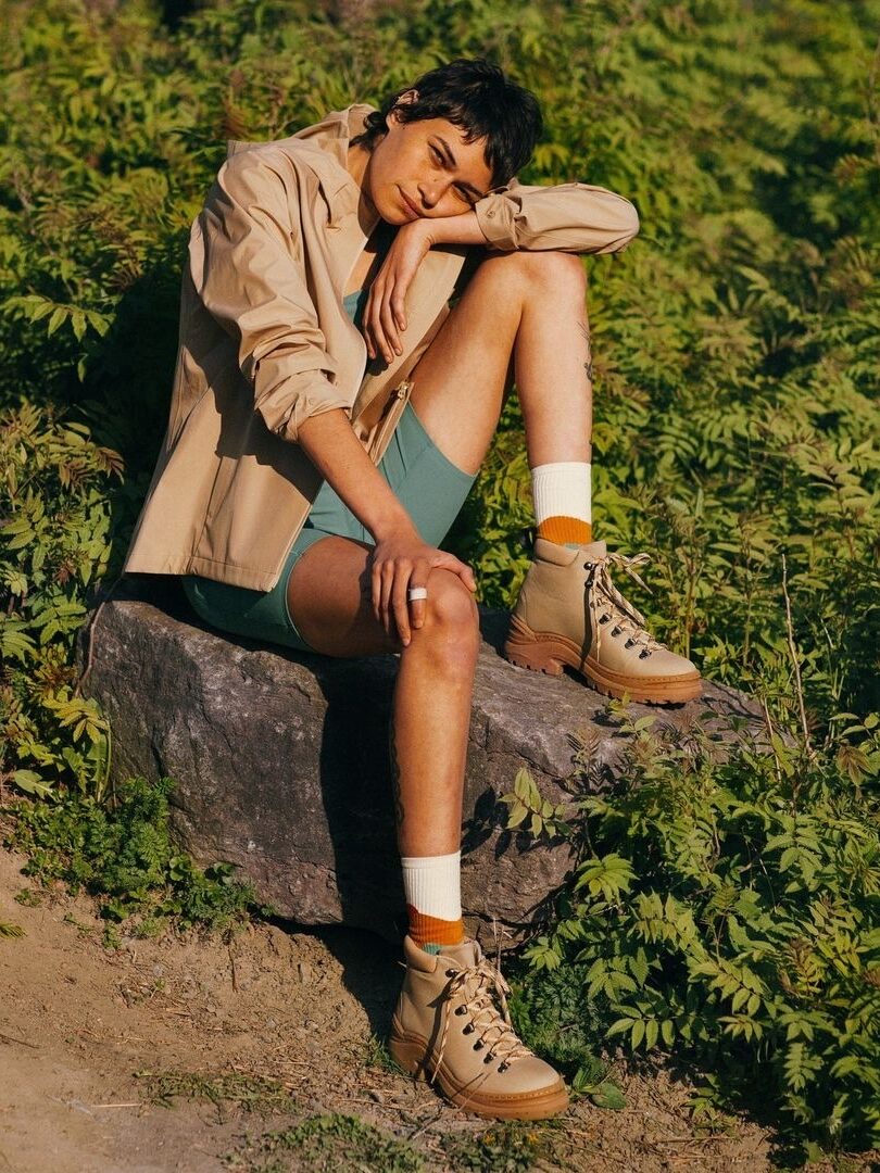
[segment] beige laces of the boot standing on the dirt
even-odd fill
[[[483,1063],[487,1066],[495,1059],[500,1059],[499,1070],[505,1071],[516,1059],[532,1057],[532,1051],[520,1042],[513,1029],[510,1011],[507,1006],[507,995],[510,992],[510,986],[501,976],[500,969],[493,965],[488,958],[482,957],[476,965],[447,970],[447,975],[449,975],[449,982],[441,997],[447,1002],[455,1001],[459,1004],[454,1009],[449,1006],[444,1015],[444,1030],[434,1073],[431,1077],[432,1084],[436,1079],[442,1063],[453,1015],[467,1016],[465,1033],[473,1035],[475,1051],[488,1049],[483,1057]],[[501,1004],[500,1015],[493,994],[497,996]]]

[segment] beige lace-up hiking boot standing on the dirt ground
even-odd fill
[[[568,1107],[560,1076],[516,1037],[509,986],[475,941],[429,954],[407,936],[404,956],[388,1047],[405,1071],[495,1120],[543,1120]]]

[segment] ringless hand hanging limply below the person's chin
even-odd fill
[[[364,337],[371,359],[381,354],[390,364],[395,354],[404,353],[400,343],[400,335],[406,330],[404,300],[432,244],[431,222],[427,219],[412,221],[398,229],[370,286],[364,311]]]

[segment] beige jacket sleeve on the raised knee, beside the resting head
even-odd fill
[[[490,249],[620,252],[638,232],[638,212],[623,196],[588,183],[529,188],[515,179],[475,205]]]

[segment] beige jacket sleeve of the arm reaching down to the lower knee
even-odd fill
[[[310,415],[348,408],[334,386],[296,252],[297,177],[283,155],[243,151],[221,168],[190,242],[204,306],[236,340],[238,365],[271,432],[296,441]]]

